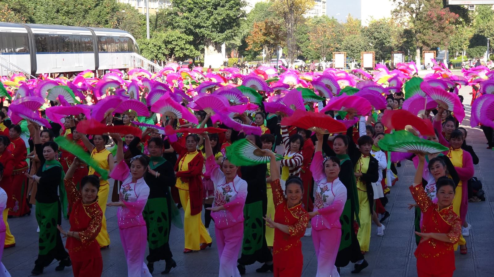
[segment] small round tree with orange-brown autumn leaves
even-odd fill
[[[283,24],[276,19],[265,19],[255,22],[252,31],[247,36],[248,47],[246,50],[260,51],[264,49],[267,55],[272,56],[285,40]]]

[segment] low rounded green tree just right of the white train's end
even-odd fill
[[[179,61],[199,55],[199,51],[190,43],[193,37],[176,30],[154,32],[150,39],[137,39],[141,55],[148,60]]]

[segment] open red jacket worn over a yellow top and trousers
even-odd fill
[[[175,141],[170,142],[171,147],[178,153],[178,160],[175,163],[175,176],[177,178],[188,178],[189,181],[189,197],[190,197],[190,214],[200,214],[203,210],[203,166],[204,157],[200,150],[198,154],[190,161],[188,171],[178,171],[180,160],[188,153],[181,143]]]

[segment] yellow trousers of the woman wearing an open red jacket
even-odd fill
[[[212,242],[211,237],[207,234],[206,227],[204,227],[201,219],[201,213],[191,215],[190,214],[190,197],[189,191],[179,189],[180,202],[184,208],[184,233],[185,233],[185,248],[191,250],[199,250],[201,243]]]

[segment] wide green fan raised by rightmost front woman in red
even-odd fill
[[[441,143],[419,138],[405,130],[384,135],[378,144],[382,150],[391,152],[435,154],[449,149]]]

